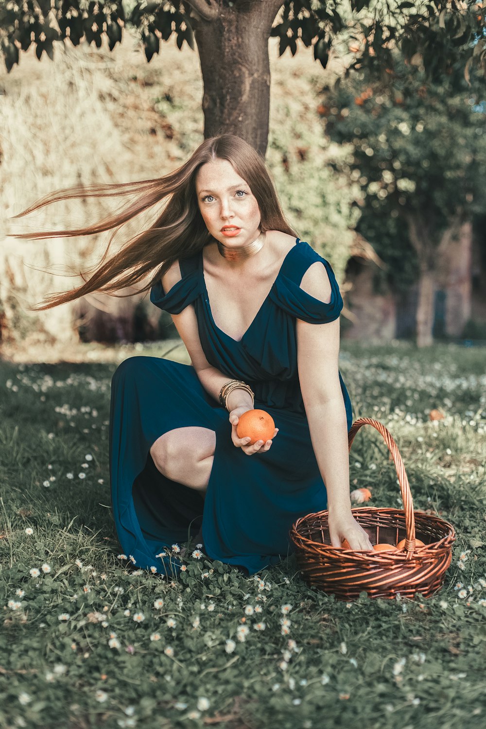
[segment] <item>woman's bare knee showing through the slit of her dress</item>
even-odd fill
[[[216,433],[191,426],[165,432],[152,444],[150,455],[162,475],[189,488],[208,488]]]

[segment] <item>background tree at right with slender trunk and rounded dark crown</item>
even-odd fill
[[[417,343],[426,346],[439,260],[486,205],[486,94],[458,67],[431,82],[421,58],[396,53],[394,69],[390,87],[351,74],[320,111],[326,134],[350,143],[345,171],[362,187],[361,232],[396,278],[418,275]]]

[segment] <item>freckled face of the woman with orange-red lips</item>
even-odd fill
[[[209,233],[228,248],[258,238],[260,211],[250,187],[227,160],[205,163],[196,175],[197,204]]]

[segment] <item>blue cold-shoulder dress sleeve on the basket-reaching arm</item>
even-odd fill
[[[297,260],[281,271],[281,276],[275,281],[270,296],[273,301],[286,313],[296,319],[308,321],[310,324],[326,324],[340,316],[342,310],[342,297],[329,261],[321,257],[308,243],[302,243],[302,249]],[[300,282],[310,265],[320,261],[326,268],[331,284],[331,300],[324,303],[307,294],[301,289]]]

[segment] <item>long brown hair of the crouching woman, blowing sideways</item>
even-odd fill
[[[61,238],[74,235],[93,235],[105,230],[114,230],[101,262],[93,266],[94,273],[88,280],[81,273],[84,284],[71,291],[50,294],[44,297],[43,304],[31,307],[31,311],[42,311],[54,306],[74,301],[92,292],[111,294],[133,286],[146,274],[155,269],[149,283],[124,296],[148,290],[174,261],[188,258],[203,249],[211,240],[203,217],[197,206],[195,178],[201,165],[215,159],[227,160],[235,171],[246,181],[256,198],[261,215],[261,230],[281,230],[282,233],[297,235],[286,221],[278,200],[273,181],[264,160],[248,142],[234,134],[222,134],[205,139],[189,160],[171,174],[156,179],[139,182],[114,184],[90,184],[69,187],[66,190],[51,192],[37,200],[34,205],[22,211],[15,218],[23,217],[50,203],[71,198],[103,198],[119,195],[136,195],[136,199],[121,211],[77,230],[56,230],[55,232],[16,233],[15,238]],[[160,216],[147,230],[130,238],[109,260],[109,252],[114,235],[128,220],[150,208],[155,203],[171,196]],[[162,265],[161,265],[162,264]]]

